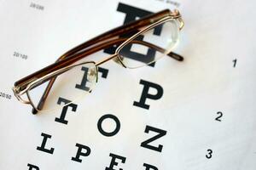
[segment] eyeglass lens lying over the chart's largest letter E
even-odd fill
[[[119,59],[128,68],[137,68],[153,63],[171,52],[177,44],[179,25],[176,20],[143,32],[119,50]]]

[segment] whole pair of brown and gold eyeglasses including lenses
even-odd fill
[[[20,102],[32,105],[32,113],[51,111],[62,97],[65,105],[89,94],[98,79],[98,66],[113,59],[125,68],[150,65],[162,56],[182,61],[172,53],[183,20],[177,10],[169,9],[148,15],[92,38],[61,55],[52,65],[15,82],[14,94]],[[115,53],[99,62],[81,61],[102,49],[117,46]],[[82,82],[81,82],[82,80]],[[21,96],[24,96],[21,98]]]

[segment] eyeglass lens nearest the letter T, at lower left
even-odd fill
[[[59,74],[51,88],[47,88],[51,81],[49,80],[31,88],[28,94],[32,105],[39,111],[50,111],[63,106],[57,104],[59,98],[67,99],[69,102],[65,105],[68,105],[89,94],[96,84],[96,78],[97,70],[94,63],[79,64]],[[44,99],[45,102],[42,102]]]

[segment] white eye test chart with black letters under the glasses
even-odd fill
[[[256,169],[254,1],[0,4],[0,169]],[[14,82],[67,50],[166,8],[183,16],[173,49],[182,62],[165,56],[125,69],[109,61],[91,94],[38,115],[12,93]]]

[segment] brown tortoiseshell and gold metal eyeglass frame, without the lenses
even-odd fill
[[[172,12],[169,9],[166,9],[155,14],[150,14],[147,17],[144,17],[140,20],[133,21],[124,26],[119,26],[111,31],[103,33],[98,37],[92,38],[89,41],[84,42],[79,46],[67,51],[66,54],[61,55],[61,57],[57,59],[54,64],[44,67],[42,70],[36,71],[31,75],[24,77],[19,81],[15,82],[15,87],[13,88],[15,97],[24,104],[32,105],[32,108],[33,108],[32,113],[36,114],[38,111],[40,111],[43,108],[44,101],[49,94],[50,88],[55,82],[55,78],[62,72],[67,71],[71,69],[73,66],[75,66],[72,64],[78,61],[79,59],[83,59],[84,57],[90,54],[96,53],[97,51],[100,51],[102,49],[110,48],[113,45],[119,45],[115,53],[110,55],[107,59],[103,59],[102,61],[99,61],[97,63],[94,61],[89,61],[84,63],[94,63],[97,68],[98,65],[102,65],[102,63],[105,63],[108,60],[114,59],[116,62],[119,62],[119,64],[123,65],[126,68],[125,64],[122,62],[121,57],[119,56],[119,50],[131,41],[136,43],[143,43],[143,45],[148,46],[149,48],[154,48],[157,51],[163,52],[165,51],[165,49],[157,47],[154,44],[151,44],[148,42],[136,41],[135,37],[142,34],[144,31],[148,31],[154,26],[158,26],[161,23],[164,23],[168,20],[173,20],[173,19],[178,20],[178,22],[180,23],[179,28],[181,30],[183,28],[183,20],[179,12],[177,10],[174,10]],[[138,31],[135,35],[133,35],[130,38],[119,37],[121,35],[127,34],[129,32],[133,32],[133,31],[137,31],[137,30],[141,30],[141,31]],[[174,54],[172,52],[170,52],[167,55],[179,61],[183,60],[182,56],[178,54]],[[80,63],[79,65],[82,65],[84,63]],[[32,100],[30,99],[30,96],[28,94],[28,90],[31,88],[35,88],[38,85],[48,80],[49,80],[49,84],[45,89],[44,94],[40,99],[38,106],[33,105]],[[22,99],[20,97],[20,95],[25,93],[27,95],[28,100]]]

